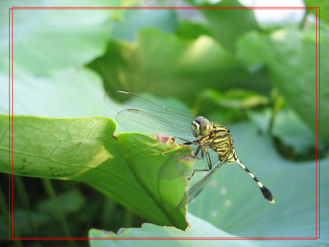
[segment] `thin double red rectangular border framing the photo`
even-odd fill
[[[191,10],[191,9],[255,9],[255,10],[284,10],[284,9],[302,9],[302,10],[315,10],[316,16],[316,37],[315,37],[315,89],[316,89],[316,236],[315,237],[14,237],[13,236],[13,12],[15,9],[20,10],[104,10],[104,9],[179,9],[179,10]],[[317,14],[317,11],[319,14]],[[317,26],[318,19],[320,19],[320,7],[12,7],[9,9],[9,240],[89,240],[89,239],[190,239],[190,240],[316,240],[320,238],[320,25]],[[319,22],[320,23],[320,22]],[[319,41],[317,43],[317,33],[319,35]],[[317,49],[318,46],[318,49]],[[318,85],[317,85],[318,83]],[[317,87],[319,93],[317,93]],[[11,131],[11,132],[10,132]],[[10,152],[12,151],[12,152]],[[11,154],[11,155],[10,155]],[[12,162],[11,162],[12,160]],[[317,163],[318,161],[318,163]]]

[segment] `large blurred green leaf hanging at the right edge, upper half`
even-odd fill
[[[315,80],[315,42],[287,30],[273,33],[271,38],[273,42],[267,59],[274,85],[313,130],[316,130],[316,99],[320,97],[320,125],[325,126],[329,123],[329,83],[324,79],[329,76],[326,64],[329,61],[329,45],[320,46],[322,79],[319,93]],[[329,130],[320,129],[320,137],[329,143]]]

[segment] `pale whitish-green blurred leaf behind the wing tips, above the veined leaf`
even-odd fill
[[[114,117],[114,111],[104,103],[104,94],[100,76],[88,68],[70,68],[34,76],[18,66],[15,67],[14,114]],[[7,114],[8,110],[7,91],[7,95],[0,98],[0,112]]]

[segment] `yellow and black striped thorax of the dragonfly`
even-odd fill
[[[237,160],[232,134],[225,126],[215,125],[212,123],[211,132],[207,140],[203,142],[203,145],[218,153],[218,158],[220,161],[225,158],[227,152],[232,147],[230,154],[224,163],[233,163]]]

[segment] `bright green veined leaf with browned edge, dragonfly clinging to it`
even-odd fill
[[[8,173],[8,115],[0,120],[0,171]],[[148,222],[186,228],[184,209],[176,210],[186,185],[177,157],[189,148],[162,136],[115,134],[104,117],[13,120],[14,175],[85,182]]]

